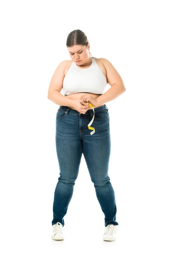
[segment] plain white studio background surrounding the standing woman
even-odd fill
[[[0,150],[2,255],[169,255],[170,40],[168,1],[2,1]],[[109,177],[118,238],[102,240],[104,214],[84,156],[64,217],[51,239],[59,177],[55,117],[47,98],[54,70],[71,59],[80,29],[93,57],[107,58],[126,92],[110,114]],[[62,93],[62,91],[61,91]],[[66,156],[67,157],[67,156]]]

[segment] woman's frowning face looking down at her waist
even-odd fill
[[[83,64],[89,61],[89,48],[90,45],[88,44],[88,47],[85,47],[85,45],[74,45],[72,47],[67,47],[68,52],[71,56],[72,61],[74,61],[76,64]],[[79,61],[79,62],[76,62]]]

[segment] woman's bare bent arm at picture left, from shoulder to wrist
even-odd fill
[[[64,80],[65,61],[62,61],[51,78],[48,88],[48,99],[57,105],[72,107],[72,100],[60,93]]]

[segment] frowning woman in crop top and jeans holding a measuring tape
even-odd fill
[[[92,57],[84,32],[79,29],[72,31],[66,46],[71,61],[59,64],[48,89],[48,99],[59,105],[56,150],[60,177],[54,192],[51,238],[64,239],[63,217],[73,195],[83,153],[96,197],[105,215],[103,240],[114,241],[119,224],[116,221],[115,194],[108,176],[111,138],[105,102],[111,100],[111,95],[116,98],[122,94],[125,87],[107,59]],[[104,93],[108,83],[111,88]],[[113,84],[116,84],[114,88]],[[62,89],[65,96],[60,93]],[[93,118],[90,128],[89,123]]]

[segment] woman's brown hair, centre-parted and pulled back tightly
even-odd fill
[[[66,46],[72,47],[74,45],[85,45],[88,46],[88,38],[82,30],[75,29],[68,34]],[[89,51],[90,52],[90,51]],[[90,52],[91,54],[91,52]],[[91,55],[92,57],[92,55]]]

